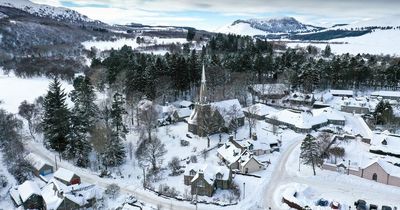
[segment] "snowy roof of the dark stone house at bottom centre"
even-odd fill
[[[204,179],[209,183],[213,184],[217,174],[221,174],[221,180],[228,180],[230,171],[225,166],[217,166],[211,164],[196,164],[191,167],[188,167],[185,173],[189,173],[191,170],[195,170],[197,173],[191,180],[192,182],[199,178],[200,173],[203,173]]]

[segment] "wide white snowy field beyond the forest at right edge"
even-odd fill
[[[340,39],[332,39],[329,42],[343,42],[344,44],[329,44],[332,53],[344,54],[349,53],[357,55],[358,53],[384,54],[384,55],[400,55],[400,30],[376,30],[375,32],[365,34],[359,37],[347,37]],[[318,48],[325,49],[327,44],[322,43],[288,43],[288,47],[306,47],[314,45]]]

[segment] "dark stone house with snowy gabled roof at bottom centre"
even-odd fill
[[[194,165],[185,171],[184,184],[192,195],[211,197],[216,189],[231,188],[232,172],[224,166]]]

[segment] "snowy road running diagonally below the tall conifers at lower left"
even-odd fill
[[[28,151],[40,156],[49,163],[55,165],[55,160],[53,156],[54,154],[50,152],[44,153],[42,146],[39,145],[38,143],[27,142],[27,144],[25,144],[25,148]],[[108,185],[115,183],[115,180],[100,178],[99,176],[97,176],[93,172],[90,172],[89,170],[72,166],[67,161],[61,161],[61,162],[57,161],[57,166],[72,170],[81,177],[82,182],[95,184],[101,188],[106,188]],[[143,190],[141,185],[138,186],[129,183],[126,183],[124,185],[121,183],[116,183],[116,184],[120,186],[122,193],[132,194],[136,196],[138,200],[143,201],[146,204],[151,204],[154,207],[159,206],[161,207],[161,209],[179,209],[179,210],[195,209],[195,206],[190,204],[189,202],[182,202],[182,201],[179,202],[176,200],[169,200],[158,197],[154,195],[154,193],[152,192]],[[206,208],[205,206],[201,207],[200,204],[198,209],[208,209],[208,208]]]

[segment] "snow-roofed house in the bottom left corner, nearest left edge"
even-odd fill
[[[46,209],[41,190],[33,181],[27,180],[11,188],[10,196],[16,206],[23,206],[24,209]]]

